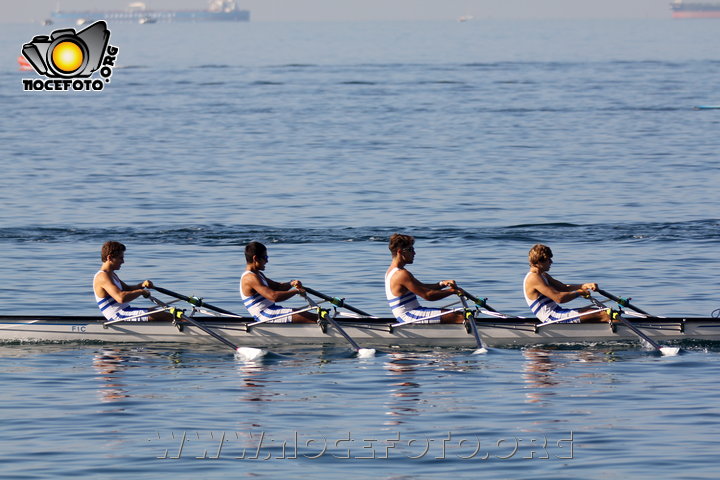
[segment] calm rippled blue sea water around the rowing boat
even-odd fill
[[[717,22],[110,25],[102,93],[24,93],[51,28],[0,32],[0,313],[95,314],[113,238],[125,280],[238,311],[257,239],[386,315],[395,231],[508,313],[536,242],[653,313],[720,307]],[[0,470],[712,478],[719,351],[3,345]]]

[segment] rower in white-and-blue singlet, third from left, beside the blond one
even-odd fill
[[[442,280],[435,284],[418,281],[405,265],[415,260],[415,238],[395,233],[388,248],[392,262],[385,273],[385,295],[398,322],[404,323],[463,323],[462,311],[421,307],[417,295],[428,301],[441,300],[460,290],[455,280]],[[459,309],[462,310],[462,309]]]

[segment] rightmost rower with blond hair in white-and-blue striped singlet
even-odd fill
[[[530,271],[525,275],[525,301],[538,319],[544,323],[609,322],[606,309],[584,307],[570,309],[560,303],[588,297],[598,289],[597,283],[565,284],[550,276],[552,250],[547,245],[534,245],[528,253]]]

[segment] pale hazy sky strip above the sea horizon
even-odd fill
[[[253,21],[454,20],[476,18],[670,18],[671,0],[238,0]],[[124,10],[131,0],[0,0],[0,21],[63,10]],[[204,9],[207,0],[146,0],[156,9]]]

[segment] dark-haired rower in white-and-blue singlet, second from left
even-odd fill
[[[305,293],[300,280],[278,283],[265,276],[263,270],[268,263],[267,247],[260,242],[245,246],[247,266],[240,278],[240,297],[250,315],[262,323],[315,323],[317,315],[308,311],[285,308],[275,302],[282,302]]]

